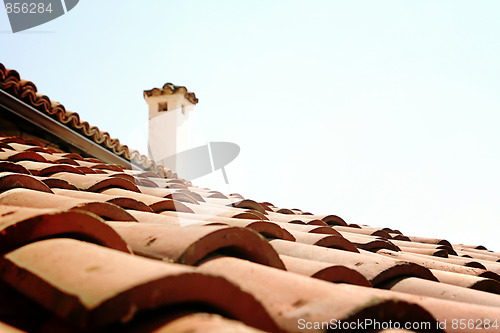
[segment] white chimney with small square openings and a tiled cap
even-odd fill
[[[189,113],[198,103],[186,87],[166,83],[163,88],[144,91],[149,105],[148,154],[154,161],[187,150]]]

